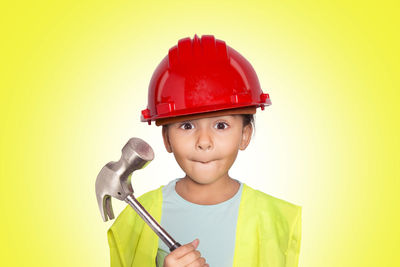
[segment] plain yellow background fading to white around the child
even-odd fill
[[[9,2],[1,266],[109,266],[96,176],[132,136],[156,154],[137,196],[182,175],[139,115],[158,63],[194,34],[239,51],[271,96],[231,175],[303,207],[300,266],[400,266],[398,1]]]

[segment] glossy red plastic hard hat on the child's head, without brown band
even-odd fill
[[[212,35],[195,35],[180,39],[154,71],[141,121],[269,105],[242,55]]]

